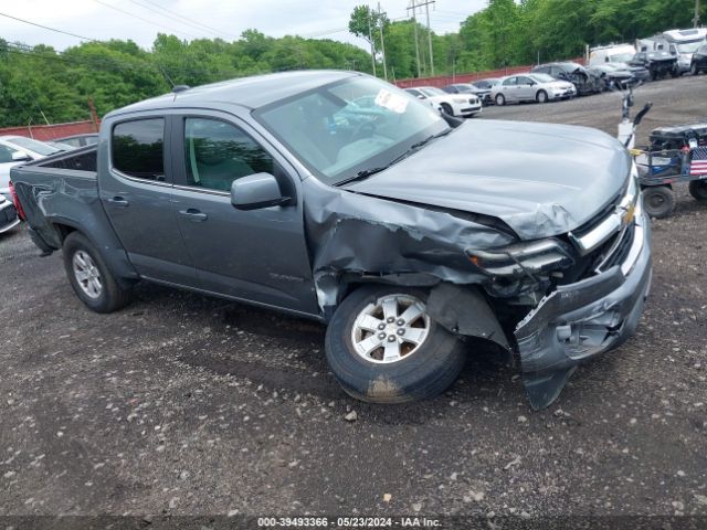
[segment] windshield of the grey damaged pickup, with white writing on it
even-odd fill
[[[329,184],[386,166],[413,144],[450,128],[432,107],[370,77],[325,85],[254,116]]]

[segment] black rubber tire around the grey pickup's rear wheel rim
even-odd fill
[[[72,232],[64,240],[63,246],[64,255],[64,268],[66,269],[66,276],[68,282],[76,293],[76,296],[83,301],[86,307],[96,312],[113,312],[120,309],[130,301],[131,293],[129,289],[124,289],[118,285],[115,277],[108,269],[99,252],[88,241],[88,239],[80,232]],[[80,285],[81,280],[77,277],[77,273],[74,267],[74,257],[76,255],[87,254],[93,262],[93,266],[97,269],[98,279],[101,283],[101,289],[97,296],[89,296],[85,288]]]

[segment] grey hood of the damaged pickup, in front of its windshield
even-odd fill
[[[581,226],[630,170],[623,146],[597,129],[475,119],[347,189],[492,215],[531,240]]]

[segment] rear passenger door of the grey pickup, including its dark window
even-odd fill
[[[170,202],[172,168],[166,156],[170,119],[151,115],[109,125],[110,146],[99,148],[99,194],[141,276],[193,286],[194,266]]]

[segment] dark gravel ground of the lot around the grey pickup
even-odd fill
[[[704,119],[707,76],[637,99],[655,103],[643,137]],[[484,117],[613,135],[620,98]],[[677,191],[636,337],[540,412],[488,357],[437,399],[366,405],[316,324],[149,285],[96,315],[59,254],[0,236],[0,516],[707,516],[707,206]]]

